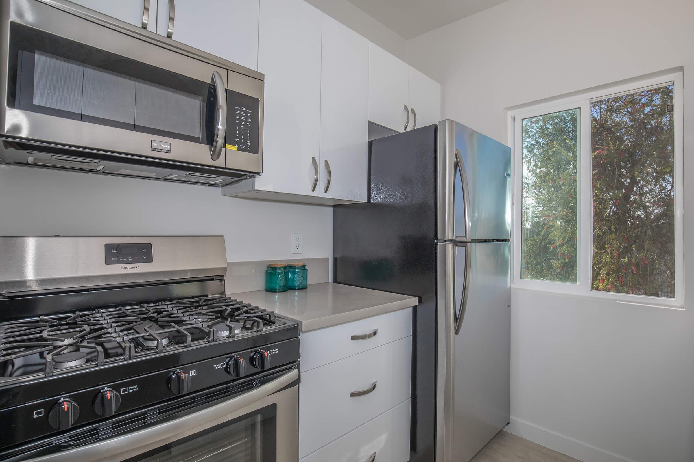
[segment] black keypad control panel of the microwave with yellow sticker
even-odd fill
[[[238,91],[226,91],[226,148],[258,153],[260,100]]]

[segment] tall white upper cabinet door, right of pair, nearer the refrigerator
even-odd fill
[[[366,202],[369,41],[323,15],[322,50],[320,195]]]

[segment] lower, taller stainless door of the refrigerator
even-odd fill
[[[509,242],[437,245],[437,462],[467,462],[509,422]]]

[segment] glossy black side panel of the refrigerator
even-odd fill
[[[333,208],[334,280],[418,296],[412,337],[410,461],[436,441],[437,125],[369,143],[366,204]]]

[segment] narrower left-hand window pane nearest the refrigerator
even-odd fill
[[[578,282],[579,111],[523,119],[522,278]]]

